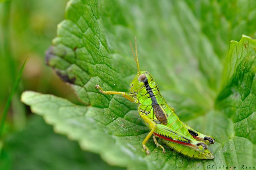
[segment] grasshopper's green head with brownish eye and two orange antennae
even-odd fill
[[[138,92],[143,86],[145,86],[145,84],[150,83],[151,81],[153,81],[152,76],[150,75],[150,73],[148,73],[147,71],[140,71],[140,65],[139,65],[139,60],[138,60],[138,53],[137,53],[137,40],[136,37],[135,39],[135,52],[136,52],[136,56],[134,54],[132,45],[130,43],[131,46],[131,51],[132,54],[134,56],[134,59],[136,61],[137,64],[137,69],[138,72],[135,76],[135,78],[132,80],[131,85],[130,85],[130,94],[135,94],[136,92]]]

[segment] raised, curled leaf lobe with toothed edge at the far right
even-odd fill
[[[256,143],[256,40],[243,36],[240,42],[231,41],[224,78],[226,85],[216,100],[234,123],[234,135]]]

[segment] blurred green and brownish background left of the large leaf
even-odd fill
[[[4,126],[0,169],[119,169],[97,154],[81,151],[77,142],[57,135],[20,102],[24,90],[54,94],[77,103],[72,90],[44,63],[45,50],[64,19],[68,0],[0,1],[0,111],[28,57],[22,80]],[[1,149],[0,149],[1,150]]]

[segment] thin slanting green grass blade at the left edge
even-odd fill
[[[20,69],[19,73],[18,73],[18,76],[15,80],[15,83],[12,87],[12,90],[11,90],[11,93],[8,97],[8,100],[7,100],[7,103],[5,105],[5,108],[4,108],[4,111],[3,111],[3,115],[2,115],[2,120],[1,120],[1,123],[0,123],[0,138],[2,136],[2,133],[3,133],[3,126],[4,126],[4,122],[5,122],[5,119],[6,119],[6,116],[7,116],[7,112],[9,110],[9,107],[10,107],[10,104],[11,104],[11,101],[12,101],[12,98],[18,88],[18,85],[19,85],[19,82],[21,80],[21,77],[22,77],[22,73],[23,73],[23,70],[24,70],[24,67],[26,65],[26,62],[27,62],[27,58],[26,60],[24,61],[23,65],[22,65],[22,68]]]

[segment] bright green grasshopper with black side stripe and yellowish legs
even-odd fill
[[[156,146],[160,147],[163,153],[166,153],[165,148],[158,143],[156,137],[161,138],[163,143],[183,155],[198,159],[213,159],[214,156],[207,150],[207,145],[213,144],[214,138],[197,132],[177,117],[174,109],[168,106],[160,94],[151,74],[140,70],[136,37],[136,56],[131,43],[130,46],[138,69],[130,85],[130,94],[120,91],[104,91],[99,85],[95,87],[102,94],[122,95],[133,103],[139,103],[138,112],[140,117],[150,129],[150,133],[142,142],[146,154],[150,153],[146,143],[153,135]]]

